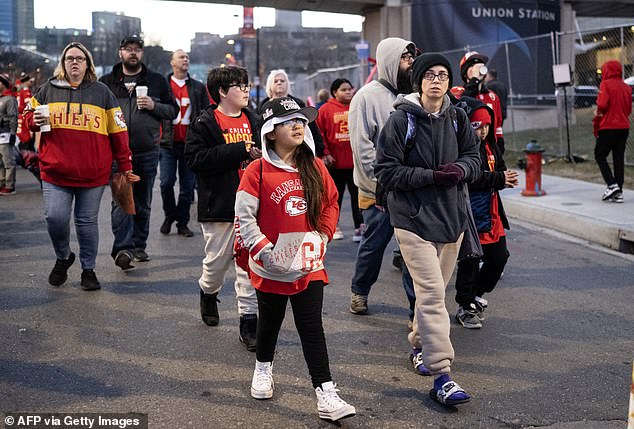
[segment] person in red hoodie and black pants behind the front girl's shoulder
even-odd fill
[[[343,202],[343,193],[348,186],[350,205],[352,206],[352,220],[354,221],[354,235],[352,241],[361,241],[361,224],[363,217],[359,210],[359,190],[354,184],[352,172],[352,147],[350,146],[350,132],[348,130],[348,110],[352,101],[353,88],[348,79],[335,79],[330,86],[332,98],[319,108],[317,126],[324,136],[324,154],[322,160],[339,192],[339,207]],[[337,227],[333,237],[341,240],[343,232]]]

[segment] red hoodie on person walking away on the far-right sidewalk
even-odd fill
[[[632,113],[632,88],[622,77],[621,63],[613,60],[601,66],[603,80],[597,96],[597,114],[593,120],[599,130],[630,128],[628,116]]]

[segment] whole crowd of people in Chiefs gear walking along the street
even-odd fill
[[[504,162],[506,93],[492,90],[496,74],[487,73],[488,58],[465,54],[456,68],[461,85],[452,86],[454,67],[445,56],[390,37],[376,49],[378,79],[356,92],[337,78],[320,93],[318,108],[306,106],[290,95],[286,72],[276,69],[266,81],[267,98],[253,109],[244,68],[213,68],[202,83],[189,75],[187,53],[176,50],[172,73],[164,77],[146,67],[143,52],[143,39],[124,38],[120,62],[98,79],[90,52],[70,43],[54,76],[34,95],[29,76],[14,97],[8,77],[0,75],[0,194],[15,193],[13,146],[37,146],[56,256],[49,283],[64,284],[75,261],[73,214],[81,287],[101,287],[98,212],[109,184],[114,265],[128,271],[151,260],[146,248],[160,167],[160,233],[169,234],[175,223],[178,235],[193,237],[190,207],[198,195],[200,315],[208,326],[220,323],[218,294],[235,269],[238,338],[256,358],[251,395],[273,396],[273,360],[290,301],[319,417],[351,417],[356,410],[337,393],[322,324],[329,283],[324,261],[330,241],[345,236],[339,214],[347,188],[351,238],[359,243],[349,311],[369,313],[368,296],[395,237],[409,302],[412,369],[433,378],[433,400],[468,402],[451,371],[445,291],[457,266],[455,320],[467,329],[483,326],[484,295],[509,258],[500,191],[518,185]],[[611,113],[612,92],[621,87],[609,79],[619,69],[605,67],[597,153],[612,150],[616,161],[627,130]],[[604,199],[622,201],[622,167],[615,162],[612,176],[604,158],[597,156],[609,185]]]

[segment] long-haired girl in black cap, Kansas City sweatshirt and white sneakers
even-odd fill
[[[319,417],[355,415],[337,395],[322,327],[326,244],[337,227],[337,190],[315,158],[308,123],[317,110],[290,97],[262,107],[262,160],[251,163],[236,196],[236,247],[247,249],[258,298],[256,364],[251,396],[273,396],[273,356],[287,301],[293,308],[304,358],[317,395]]]

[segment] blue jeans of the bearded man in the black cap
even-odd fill
[[[159,151],[132,155],[132,171],[141,177],[134,183],[135,215],[126,214],[115,201],[112,201],[110,219],[114,243],[111,255],[114,258],[120,250],[143,249],[147,246],[150,234],[150,208],[152,207],[152,188],[156,179]]]

